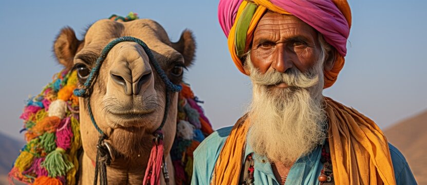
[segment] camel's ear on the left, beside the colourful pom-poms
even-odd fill
[[[66,69],[73,66],[74,56],[77,53],[79,44],[82,43],[76,38],[76,33],[70,27],[63,28],[53,44],[55,57]]]

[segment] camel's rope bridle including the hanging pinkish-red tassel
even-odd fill
[[[92,115],[92,109],[90,108],[90,95],[92,91],[91,87],[95,83],[94,79],[96,79],[96,77],[98,76],[99,69],[101,68],[103,61],[107,57],[108,52],[116,44],[120,42],[136,42],[140,46],[142,46],[142,48],[144,48],[145,53],[148,55],[148,59],[150,60],[157,74],[160,76],[160,78],[162,79],[162,81],[166,86],[166,90],[165,90],[166,105],[164,108],[163,120],[160,126],[157,128],[157,130],[153,133],[154,135],[153,147],[150,153],[150,159],[148,159],[147,169],[145,170],[143,184],[144,185],[160,184],[160,170],[162,170],[163,177],[165,179],[166,184],[169,184],[169,173],[168,173],[168,169],[166,169],[166,161],[163,155],[164,147],[163,147],[162,128],[164,123],[166,122],[166,118],[168,118],[168,109],[170,105],[169,93],[179,92],[182,89],[182,87],[180,85],[173,84],[168,79],[168,76],[166,76],[163,69],[160,67],[159,63],[157,63],[156,59],[154,58],[154,55],[151,52],[151,49],[148,48],[148,46],[144,42],[132,36],[124,36],[108,43],[104,47],[100,57],[97,59],[95,63],[94,68],[92,68],[86,82],[83,84],[84,85],[83,88],[75,89],[73,92],[76,96],[87,98],[87,110],[88,110],[89,117],[92,121],[92,124],[95,126],[95,128],[100,134],[98,144],[97,144],[97,157],[96,157],[96,165],[95,165],[94,185],[98,183],[98,174],[100,176],[100,180],[99,180],[100,184],[101,185],[107,184],[107,167],[106,166],[109,165],[112,161],[114,161],[115,156],[113,154],[112,147],[107,142],[104,142],[104,140],[107,139],[107,136],[98,127],[95,121],[94,115]]]

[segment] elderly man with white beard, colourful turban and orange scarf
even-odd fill
[[[221,0],[218,17],[253,98],[199,145],[193,184],[416,184],[372,120],[322,95],[344,65],[346,1]]]

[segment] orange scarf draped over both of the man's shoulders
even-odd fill
[[[396,184],[388,142],[374,121],[325,97],[336,184]],[[249,119],[234,125],[215,164],[212,183],[238,184]]]

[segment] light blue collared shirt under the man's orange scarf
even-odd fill
[[[194,151],[193,177],[191,184],[210,184],[216,160],[218,159],[222,146],[224,146],[231,129],[232,126],[217,130],[203,140]],[[392,144],[388,144],[388,146],[392,157],[397,184],[417,184],[403,155]],[[285,184],[319,184],[318,177],[323,168],[320,162],[321,150],[321,145],[318,145],[312,153],[296,160],[289,171]],[[245,158],[251,153],[253,153],[253,150],[249,144],[246,144]],[[279,185],[267,158],[260,156],[254,157],[254,169],[254,184]]]

